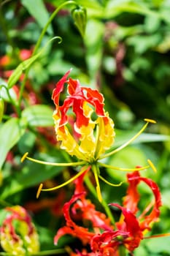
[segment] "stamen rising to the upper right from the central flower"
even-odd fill
[[[144,132],[144,129],[147,128],[147,125],[148,125],[149,123],[154,123],[154,124],[155,124],[155,121],[152,120],[152,119],[147,119],[147,118],[145,118],[144,121],[147,121],[147,123],[144,124],[144,126],[142,127],[142,129],[140,129],[139,132],[137,132],[136,135],[134,135],[134,137],[132,137],[130,140],[128,140],[126,143],[124,143],[124,144],[123,144],[122,146],[120,146],[119,148],[116,148],[115,150],[113,150],[113,151],[111,151],[111,152],[109,152],[109,153],[107,153],[107,154],[104,154],[103,157],[99,157],[99,159],[103,159],[103,158],[106,158],[106,157],[110,157],[110,156],[112,156],[112,154],[117,153],[118,151],[120,151],[121,149],[125,148],[125,147],[128,146],[130,143],[132,143],[134,140],[136,140],[136,138],[138,138],[139,135],[141,135],[142,132]]]

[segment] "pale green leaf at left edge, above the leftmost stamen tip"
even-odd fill
[[[18,143],[26,129],[26,124],[18,118],[11,118],[0,127],[0,170],[9,150]]]

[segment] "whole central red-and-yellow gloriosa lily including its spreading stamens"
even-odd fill
[[[101,190],[98,178],[112,186],[120,186],[120,184],[111,184],[106,181],[104,177],[101,176],[99,167],[109,167],[114,170],[125,170],[134,171],[136,169],[125,169],[121,167],[113,167],[100,162],[100,159],[115,154],[120,151],[129,143],[134,141],[151,123],[155,121],[151,119],[144,119],[146,124],[144,127],[134,135],[131,140],[128,140],[125,144],[111,150],[111,146],[115,139],[114,123],[109,114],[104,110],[104,97],[98,90],[90,89],[88,87],[80,86],[78,80],[72,78],[67,78],[69,76],[70,70],[63,75],[63,78],[58,81],[56,88],[53,91],[53,101],[55,103],[55,111],[53,113],[53,118],[55,121],[55,132],[58,141],[61,141],[61,148],[63,148],[72,157],[77,157],[77,162],[67,162],[67,163],[50,163],[43,162],[31,157],[28,157],[26,153],[21,161],[24,159],[29,159],[34,162],[39,162],[44,165],[55,165],[55,166],[83,166],[79,173],[72,177],[69,181],[64,182],[58,187],[51,189],[42,189],[42,184],[40,184],[37,197],[41,191],[48,191],[53,189],[58,189],[60,187],[69,184],[85,172],[87,167],[93,171],[96,179],[96,191],[98,195],[98,200],[102,200]],[[60,105],[60,96],[63,92],[64,85],[67,84],[68,96],[63,101],[63,105]],[[109,153],[106,151],[109,150]],[[140,167],[139,170],[147,169],[152,167],[155,170],[155,166],[150,160],[148,160],[149,165]]]

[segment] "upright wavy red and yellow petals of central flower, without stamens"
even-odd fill
[[[69,72],[66,72],[53,91],[56,107],[53,118],[57,140],[61,141],[61,148],[71,156],[93,162],[112,146],[115,137],[114,123],[104,110],[103,95],[97,90],[80,86],[78,80],[67,80]],[[65,83],[68,96],[63,105],[60,105],[60,95]],[[74,117],[72,125],[69,124],[71,114]],[[77,132],[77,140],[72,135],[74,132]]]

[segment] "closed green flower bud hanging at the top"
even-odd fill
[[[84,7],[77,6],[72,10],[72,17],[74,19],[74,24],[80,31],[82,37],[85,35],[85,26],[87,23],[87,12]]]

